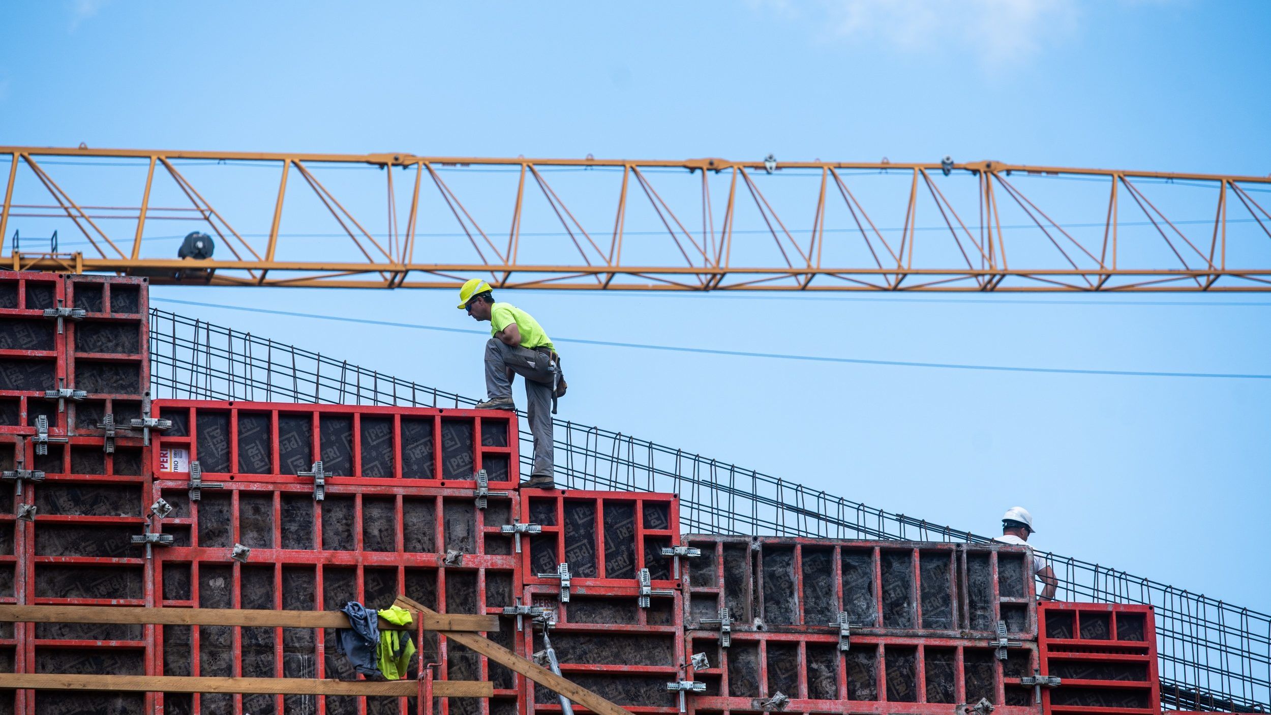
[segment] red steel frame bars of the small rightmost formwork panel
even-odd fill
[[[1101,614],[1108,618],[1107,639],[1080,637],[1082,616]],[[1117,616],[1132,613],[1143,621],[1144,640],[1121,640],[1117,627]],[[1059,686],[1084,687],[1084,688],[1115,688],[1120,691],[1141,690],[1148,692],[1148,707],[1092,707],[1074,705],[1051,705],[1054,691],[1042,691],[1042,705],[1045,712],[1054,714],[1124,714],[1124,715],[1155,715],[1160,712],[1160,677],[1157,663],[1157,626],[1155,616],[1150,606],[1131,606],[1120,603],[1042,603],[1037,608],[1041,621],[1037,645],[1041,654],[1041,673],[1051,674],[1051,665],[1057,660],[1075,660],[1085,663],[1143,663],[1146,667],[1145,681],[1102,681],[1102,679],[1064,679]],[[1046,631],[1046,620],[1059,614],[1070,614],[1073,618],[1074,637],[1050,637]]]

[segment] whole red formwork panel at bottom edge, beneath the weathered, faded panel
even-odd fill
[[[1037,667],[1037,648],[1021,642],[996,658],[984,639],[853,635],[846,650],[838,636],[796,632],[690,631],[689,678],[705,691],[688,697],[694,712],[877,712],[948,715],[981,698],[998,715],[1037,715],[1032,688],[1018,678]],[[693,658],[705,656],[707,668]],[[788,702],[774,702],[778,693]]]

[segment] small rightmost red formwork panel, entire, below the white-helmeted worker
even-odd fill
[[[1051,602],[1037,614],[1041,673],[1060,678],[1042,695],[1046,712],[1160,712],[1150,606]]]

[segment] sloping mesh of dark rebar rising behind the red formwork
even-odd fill
[[[252,333],[150,312],[155,397],[470,407],[423,387]],[[524,413],[522,413],[524,416]],[[522,420],[521,424],[525,424]],[[522,464],[533,435],[522,430]],[[555,478],[571,489],[680,495],[688,532],[974,542],[988,537],[596,426],[555,420]],[[1163,705],[1271,712],[1271,616],[1079,559],[1045,553],[1060,600],[1154,607]]]

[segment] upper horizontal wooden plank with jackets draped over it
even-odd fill
[[[423,613],[426,631],[497,631],[498,616]],[[155,623],[161,626],[259,626],[283,628],[347,628],[339,611],[268,611],[249,608],[144,608],[135,606],[6,606],[0,622],[25,623]],[[413,631],[380,618],[380,628]]]

